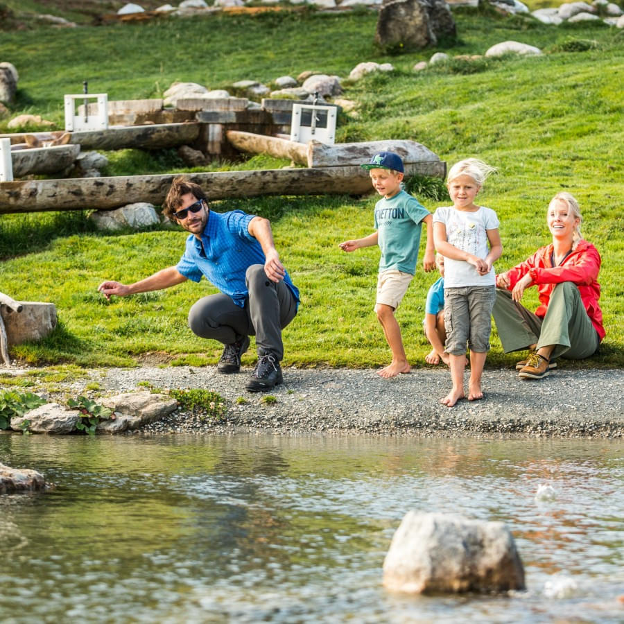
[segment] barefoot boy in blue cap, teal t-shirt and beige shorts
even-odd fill
[[[369,163],[361,166],[369,171],[374,189],[382,196],[375,205],[376,231],[363,239],[340,243],[340,249],[353,252],[372,245],[379,245],[381,248],[375,313],[390,346],[392,362],[378,374],[388,379],[410,372],[395,310],[414,277],[423,222],[427,226],[423,268],[426,271],[435,268],[431,236],[433,217],[416,198],[401,189],[404,166],[399,155],[380,152]]]

